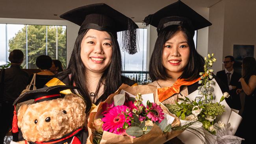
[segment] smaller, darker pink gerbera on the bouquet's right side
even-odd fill
[[[147,117],[151,118],[153,122],[161,122],[165,118],[163,115],[163,109],[160,107],[160,105],[152,103],[152,107],[150,107]]]

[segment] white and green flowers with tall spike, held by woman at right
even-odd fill
[[[221,119],[222,114],[224,114],[225,117],[232,115],[231,109],[228,107],[228,105],[225,103],[225,105],[228,107],[225,108],[225,105],[221,104],[221,102],[223,102],[223,100],[225,98],[228,98],[230,95],[228,94],[228,92],[224,92],[221,98],[218,98],[219,101],[216,101],[216,96],[214,94],[213,88],[213,85],[215,85],[216,83],[213,79],[213,69],[208,69],[209,67],[212,67],[213,63],[216,61],[213,56],[213,54],[208,54],[208,57],[204,57],[204,72],[199,73],[201,80],[199,80],[198,83],[202,85],[200,85],[197,89],[198,96],[192,97],[194,98],[194,100],[191,100],[191,96],[190,99],[188,97],[185,97],[185,99],[179,98],[180,102],[176,102],[176,104],[165,104],[165,106],[169,109],[171,113],[178,116],[181,121],[192,120],[202,123],[202,127],[211,134],[210,135],[209,133],[204,132],[205,136],[210,136],[210,138],[204,137],[206,142],[212,141],[209,139],[213,139],[215,141],[217,140],[217,142],[224,142],[223,136],[234,135],[234,132],[228,132],[228,127],[230,127],[230,123],[223,123],[218,120]],[[219,87],[217,88],[219,89]],[[225,111],[228,111],[230,113],[225,113]],[[226,118],[223,118],[223,120],[225,119]],[[236,124],[237,127],[240,122]],[[236,131],[237,127],[233,129],[233,131]],[[238,140],[238,143],[241,143],[241,138],[235,136],[232,136],[232,138]],[[230,138],[227,139],[230,140]],[[203,141],[202,138],[200,138],[200,140]]]

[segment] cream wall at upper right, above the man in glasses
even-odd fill
[[[226,55],[233,55],[233,45],[254,45],[256,57],[256,0],[222,0],[210,7],[208,53],[214,53],[215,72],[223,70]]]

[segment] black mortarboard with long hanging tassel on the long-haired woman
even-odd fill
[[[79,25],[79,32],[85,29],[95,29],[112,32],[116,36],[118,31],[123,31],[122,50],[129,54],[137,52],[137,24],[131,18],[126,17],[106,4],[91,4],[78,7],[62,14],[60,18]]]

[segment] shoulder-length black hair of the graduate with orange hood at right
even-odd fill
[[[158,79],[167,80],[171,78],[163,66],[163,46],[165,42],[171,39],[178,31],[182,31],[184,33],[190,50],[189,62],[179,78],[183,78],[188,81],[194,80],[199,77],[199,72],[203,72],[204,58],[198,54],[197,50],[195,49],[193,33],[183,26],[173,25],[161,30],[158,34],[158,38],[156,39],[154,50],[149,63],[149,75],[153,81]]]

